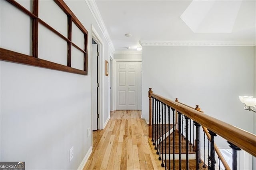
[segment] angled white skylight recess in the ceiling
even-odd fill
[[[242,0],[193,0],[180,18],[195,33],[231,33]]]

